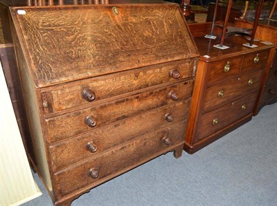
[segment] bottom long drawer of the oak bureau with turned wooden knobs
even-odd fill
[[[55,174],[55,180],[62,196],[86,186],[94,187],[132,169],[143,162],[150,160],[182,144],[184,139],[185,122],[172,124],[167,129],[161,129],[141,137],[139,140],[111,149],[75,167],[65,169]],[[166,144],[165,138],[170,138]],[[171,149],[170,149],[171,148]],[[95,178],[89,176],[93,171]]]

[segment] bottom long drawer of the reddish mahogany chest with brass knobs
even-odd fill
[[[253,106],[256,102],[257,93],[250,93],[239,100],[218,107],[202,115],[197,129],[197,140],[202,140],[220,129],[240,120],[246,115],[253,112]]]

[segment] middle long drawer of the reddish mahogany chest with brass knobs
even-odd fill
[[[258,90],[262,72],[262,70],[259,70],[247,73],[240,78],[229,79],[224,84],[216,84],[207,88],[203,111],[209,111],[241,95],[247,95],[249,91]]]

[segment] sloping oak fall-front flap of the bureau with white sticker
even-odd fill
[[[197,56],[175,4],[11,8],[38,88]]]

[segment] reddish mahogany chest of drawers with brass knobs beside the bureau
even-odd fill
[[[230,35],[220,50],[220,39],[195,37],[200,51],[184,149],[194,153],[251,120],[262,77],[273,46]]]

